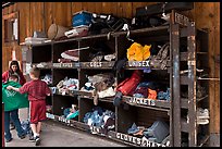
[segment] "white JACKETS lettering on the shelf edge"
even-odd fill
[[[148,98],[132,97],[132,98],[130,98],[128,102],[136,103],[136,104],[144,104],[144,105],[156,105],[155,100],[148,99]]]

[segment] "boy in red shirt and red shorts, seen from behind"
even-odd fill
[[[39,133],[41,129],[41,121],[46,117],[46,97],[51,95],[51,90],[47,83],[39,78],[40,70],[32,67],[29,72],[30,82],[25,83],[21,88],[8,86],[8,89],[13,89],[20,94],[28,95],[29,100],[29,114],[30,114],[30,128],[34,133],[34,140],[36,146],[40,145]]]

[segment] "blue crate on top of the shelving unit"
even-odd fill
[[[86,11],[79,11],[73,14],[72,25],[73,27],[91,24],[91,13]]]

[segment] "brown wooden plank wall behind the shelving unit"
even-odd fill
[[[33,36],[34,30],[47,32],[52,23],[70,27],[72,14],[82,10],[95,13],[112,13],[132,17],[136,8],[156,2],[17,2],[2,10],[2,14],[20,12],[20,42]],[[195,2],[195,9],[188,12],[197,27],[209,28],[210,76],[220,77],[220,64],[213,57],[220,54],[220,2]],[[3,26],[2,26],[3,27]],[[3,37],[2,28],[2,37]],[[16,50],[17,60],[22,60],[20,46],[7,46],[2,38],[2,72],[8,70],[12,49]],[[210,82],[211,133],[220,133],[220,82]]]

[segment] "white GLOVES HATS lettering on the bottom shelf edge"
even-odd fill
[[[130,136],[130,135],[122,134],[122,133],[116,133],[115,137],[118,139],[128,141],[128,142],[135,144],[137,146],[141,146],[141,147],[165,147],[165,145],[149,141],[146,137],[137,138],[137,137]]]

